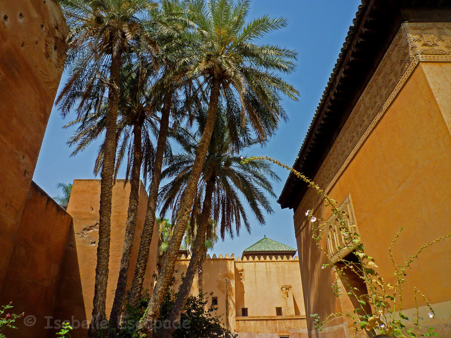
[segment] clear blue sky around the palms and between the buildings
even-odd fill
[[[360,0],[253,0],[249,18],[268,14],[284,16],[289,20],[288,27],[268,35],[262,42],[299,52],[298,69],[286,79],[299,90],[300,98],[298,102],[284,100],[290,121],[281,124],[277,135],[265,148],[254,147],[247,155],[268,155],[285,164],[294,163],[360,3]],[[98,144],[92,144],[83,153],[69,157],[72,150],[66,141],[73,129],[63,129],[62,126],[70,120],[70,116],[62,120],[58,111],[55,108],[52,110],[33,176],[33,180],[50,196],[60,194],[56,188],[59,182],[72,183],[74,179],[94,178],[92,169]],[[274,169],[281,177],[281,182],[274,184],[279,196],[288,172],[278,167]],[[266,226],[260,227],[250,217],[250,235],[243,229],[234,240],[226,238],[224,242],[218,242],[212,252],[240,256],[243,249],[265,234],[296,248],[293,210],[282,210],[276,200],[272,206],[274,214],[267,216]]]

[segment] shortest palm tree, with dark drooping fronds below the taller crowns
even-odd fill
[[[199,269],[199,261],[204,254],[203,250],[196,248],[205,246],[207,229],[211,228],[212,224],[221,224],[221,237],[224,239],[225,234],[229,233],[233,238],[235,233],[239,234],[242,220],[246,230],[250,233],[249,219],[244,210],[242,198],[247,202],[260,225],[265,224],[263,210],[269,214],[273,213],[271,202],[266,196],[269,194],[276,197],[269,178],[276,181],[280,181],[280,178],[272,171],[268,161],[252,160],[249,164],[241,163],[240,153],[256,142],[244,139],[238,145],[232,144],[227,135],[229,126],[227,123],[221,123],[222,119],[221,115],[216,119],[207,159],[198,183],[200,192],[198,196],[203,195],[203,203],[200,216],[192,215],[198,224],[193,242],[193,256],[175,304],[171,309],[169,320],[179,318],[189,297],[193,277]],[[182,194],[180,188],[183,191],[188,182],[188,173],[193,167],[198,138],[193,135],[190,139],[185,140],[188,142],[183,145],[183,148],[188,151],[175,155],[170,166],[163,171],[164,178],[174,179],[161,189],[161,198],[164,201],[162,210],[167,210],[169,205],[178,209],[175,203],[179,200],[178,195]],[[233,224],[235,227],[232,227]],[[190,236],[192,237],[188,233],[188,237]],[[156,333],[156,337],[171,337],[174,330],[160,329]]]

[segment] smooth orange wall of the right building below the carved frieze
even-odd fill
[[[387,283],[395,280],[387,251],[400,227],[403,231],[393,246],[397,264],[451,232],[447,208],[451,199],[450,79],[451,64],[420,63],[329,192],[338,203],[350,194],[361,240]],[[295,222],[305,211],[296,210]],[[330,213],[320,205],[314,215],[327,218]],[[325,318],[348,310],[349,303],[343,296],[332,295],[335,275],[331,269],[321,269],[325,258],[315,247],[309,227],[296,238],[306,312]],[[325,240],[322,246],[326,247]],[[427,309],[420,308],[423,318],[428,318],[422,326],[434,325],[442,337],[451,337],[450,251],[450,239],[425,249],[407,271],[403,291],[404,309],[415,306],[414,287],[425,294],[436,317],[429,320]],[[419,305],[425,304],[420,301]],[[313,330],[311,320],[308,324]],[[345,337],[345,327],[332,326],[328,331],[337,329],[341,334],[326,331],[321,337]]]

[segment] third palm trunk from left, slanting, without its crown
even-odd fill
[[[172,89],[168,90],[163,98],[163,108],[161,110],[160,132],[156,144],[155,163],[153,165],[152,182],[150,183],[149,199],[147,201],[146,219],[144,220],[141,243],[139,244],[138,258],[136,260],[135,274],[133,276],[132,287],[130,288],[129,303],[136,307],[141,299],[143,290],[144,275],[149,259],[150,242],[152,242],[153,227],[155,224],[156,199],[158,188],[160,187],[161,168],[163,166],[163,155],[166,149],[166,138],[169,131],[169,117],[172,103]]]

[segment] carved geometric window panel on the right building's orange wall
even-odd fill
[[[326,222],[326,242],[327,242],[327,256],[329,256],[332,263],[343,259],[351,251],[356,248],[352,239],[355,238],[355,233],[359,233],[357,229],[357,223],[355,222],[354,209],[352,207],[351,195],[348,195],[343,202],[341,202],[338,210],[344,211],[345,222],[349,228],[349,235],[343,234],[340,230],[340,222],[338,219],[334,219],[334,215],[331,215]],[[330,222],[330,223],[329,223]],[[344,229],[342,229],[344,232]]]

